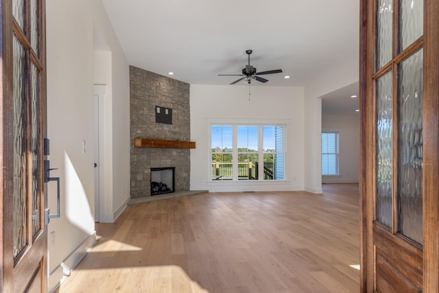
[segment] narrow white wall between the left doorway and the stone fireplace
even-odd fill
[[[130,200],[130,73],[128,61],[102,1],[90,2],[93,30],[108,47],[108,51],[95,51],[95,57],[97,62],[110,62],[110,74],[94,68],[93,84],[107,86],[104,102],[104,185],[107,202],[102,222],[113,222]]]

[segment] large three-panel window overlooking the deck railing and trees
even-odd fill
[[[283,180],[284,128],[211,126],[211,180]]]

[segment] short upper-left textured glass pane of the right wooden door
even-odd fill
[[[377,69],[381,69],[392,59],[392,12],[392,1],[378,1]]]

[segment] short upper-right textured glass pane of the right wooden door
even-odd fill
[[[423,35],[424,0],[399,0],[399,50]]]

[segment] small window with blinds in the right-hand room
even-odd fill
[[[322,132],[322,175],[338,175],[338,132]]]

